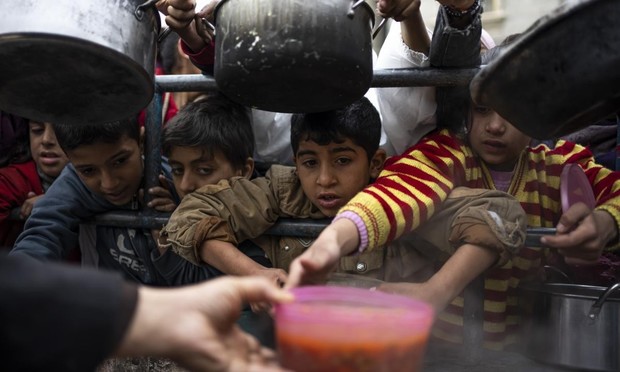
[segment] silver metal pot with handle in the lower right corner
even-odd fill
[[[618,288],[522,284],[524,353],[581,370],[620,370]]]

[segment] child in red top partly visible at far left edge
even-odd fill
[[[68,162],[50,123],[30,120],[27,125],[31,159],[0,169],[0,247],[8,249],[24,228],[23,221],[9,220],[12,209],[20,207],[19,217],[28,218]]]

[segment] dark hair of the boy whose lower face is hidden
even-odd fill
[[[162,150],[170,156],[173,146],[202,147],[213,154],[221,151],[242,169],[254,155],[254,132],[248,108],[220,93],[188,103],[164,127]]]

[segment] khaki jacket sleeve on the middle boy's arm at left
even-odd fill
[[[237,245],[262,235],[279,217],[313,217],[310,205],[294,167],[272,166],[265,177],[235,177],[186,195],[162,234],[175,252],[199,264],[203,241]]]

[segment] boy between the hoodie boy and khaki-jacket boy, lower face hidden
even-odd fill
[[[246,108],[221,94],[209,94],[188,103],[170,120],[162,132],[162,149],[168,157],[172,181],[181,198],[206,185],[232,177],[249,179],[254,171],[254,136]],[[160,238],[156,265],[178,261],[178,256]],[[271,269],[262,250],[247,241],[236,265],[247,265],[256,274],[283,278],[282,270]],[[182,260],[175,266],[163,265],[171,284],[189,284],[223,275],[218,268],[201,262]],[[162,270],[163,271],[163,270]],[[234,272],[227,272],[234,274]]]

